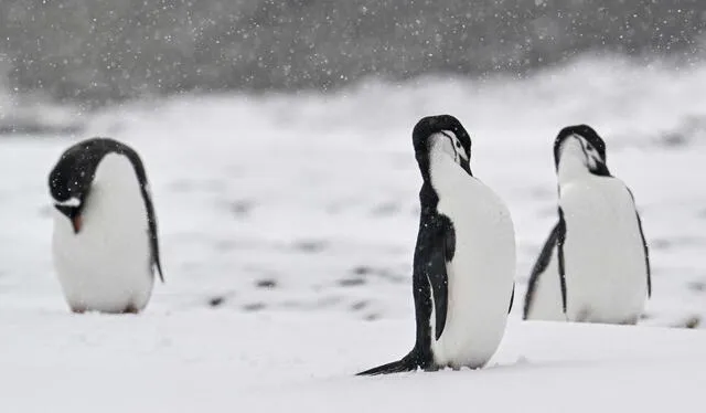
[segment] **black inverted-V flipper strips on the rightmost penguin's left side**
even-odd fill
[[[559,209],[559,211],[561,211]],[[561,284],[561,305],[564,308],[564,313],[566,313],[566,278],[564,274],[564,239],[566,237],[566,223],[564,222],[564,214],[559,212],[559,221],[554,225],[547,241],[544,243],[544,247],[542,247],[542,252],[539,253],[539,257],[534,264],[532,268],[532,274],[530,275],[530,282],[527,285],[527,293],[525,294],[525,305],[523,309],[523,318],[527,319],[530,315],[530,309],[532,308],[532,301],[534,299],[534,293],[537,289],[537,283],[539,280],[539,276],[547,269],[549,263],[552,262],[552,255],[554,253],[554,248],[558,250],[559,255],[559,280]],[[514,289],[513,289],[514,293]],[[512,303],[512,301],[511,301]],[[512,305],[511,305],[512,309]]]

